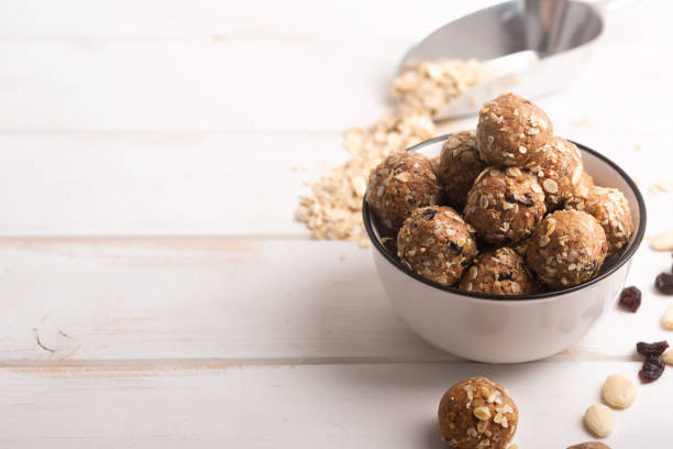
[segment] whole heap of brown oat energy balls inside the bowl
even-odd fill
[[[633,231],[624,194],[595,186],[580,150],[512,94],[484,105],[476,132],[453,134],[439,162],[416,152],[384,160],[365,199],[405,266],[492,295],[586,282]]]

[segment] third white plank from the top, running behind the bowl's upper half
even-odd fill
[[[652,217],[669,217],[664,134],[560,133],[641,182]],[[346,157],[340,134],[225,132],[0,133],[0,236],[308,236],[294,222],[302,185]],[[651,219],[652,232],[668,229]]]

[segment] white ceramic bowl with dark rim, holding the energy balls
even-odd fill
[[[449,136],[432,139],[408,151],[434,157]],[[575,144],[582,151],[584,169],[596,184],[616,187],[628,199],[633,234],[628,245],[606,260],[596,277],[571,288],[536,295],[493,296],[428,281],[386,252],[364,202],[364,223],[374,245],[374,261],[384,289],[399,316],[424,340],[452,354],[479,362],[526,362],[567,348],[615,306],[631,256],[644,233],[644,202],[636,184],[621,168],[599,153]]]

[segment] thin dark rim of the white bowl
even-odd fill
[[[448,138],[450,138],[452,134],[444,134],[444,135],[440,135],[438,138],[434,139],[430,139],[428,141],[418,143],[409,149],[407,149],[406,151],[417,151],[419,149],[421,149],[422,146],[429,145],[431,143],[434,142],[440,142],[443,140],[446,140]],[[573,142],[573,141],[570,141]],[[574,285],[570,288],[564,288],[564,289],[560,289],[560,291],[554,291],[554,292],[543,292],[543,293],[534,293],[531,295],[489,295],[486,293],[474,293],[474,292],[466,292],[466,291],[462,291],[457,287],[448,287],[445,285],[439,284],[434,281],[430,281],[424,278],[423,276],[416,274],[413,271],[407,269],[405,265],[402,265],[401,263],[397,262],[395,259],[393,259],[393,256],[390,254],[388,254],[388,252],[386,251],[386,249],[384,248],[383,243],[380,242],[380,240],[376,237],[376,233],[374,232],[374,228],[372,226],[372,220],[369,217],[369,206],[367,205],[367,201],[365,199],[363,199],[363,204],[362,204],[362,217],[363,217],[363,221],[364,221],[364,227],[367,231],[367,236],[369,237],[369,240],[372,241],[372,243],[374,244],[374,248],[388,261],[390,262],[395,267],[397,267],[398,270],[400,270],[402,273],[413,277],[416,281],[422,282],[423,284],[427,284],[431,287],[444,291],[444,292],[450,292],[450,293],[454,293],[461,296],[470,296],[473,298],[479,298],[479,299],[490,299],[490,300],[498,300],[498,302],[503,302],[503,300],[531,300],[531,299],[544,299],[544,298],[550,298],[550,297],[554,297],[554,296],[560,296],[560,295],[564,295],[566,293],[572,293],[572,292],[577,292],[582,288],[586,288],[589,285],[596,284],[600,281],[603,281],[604,278],[608,277],[610,274],[615,273],[617,270],[619,270],[625,263],[627,263],[636,253],[636,251],[638,251],[638,248],[640,248],[640,243],[642,242],[642,237],[644,236],[644,229],[646,229],[646,225],[647,225],[647,211],[646,211],[646,205],[644,205],[644,200],[642,198],[642,195],[640,194],[640,190],[638,189],[638,187],[636,186],[636,183],[633,183],[633,180],[629,177],[629,175],[627,175],[617,164],[615,164],[613,161],[610,161],[609,158],[605,157],[603,154],[598,153],[595,150],[592,150],[581,143],[577,142],[573,142],[575,145],[577,145],[580,149],[582,149],[583,151],[589,153],[591,155],[598,157],[600,161],[605,162],[607,165],[609,165],[610,167],[613,167],[617,173],[619,173],[619,175],[627,182],[627,184],[629,185],[629,187],[631,188],[631,190],[633,191],[633,195],[636,196],[636,200],[638,201],[638,209],[640,212],[640,220],[638,223],[638,232],[636,233],[635,237],[632,237],[633,239],[633,243],[631,244],[631,247],[624,252],[620,255],[620,259],[615,262],[615,264],[605,273],[599,274],[598,276],[584,282],[582,284],[578,285]]]

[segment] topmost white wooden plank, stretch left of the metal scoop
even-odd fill
[[[401,0],[103,0],[96,6],[29,0],[0,9],[0,39],[418,39],[426,29],[495,2],[427,1],[409,8]]]

